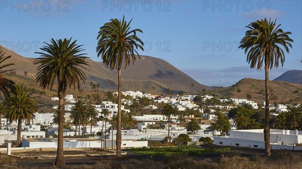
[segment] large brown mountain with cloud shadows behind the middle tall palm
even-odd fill
[[[24,75],[27,71],[28,76],[34,78],[37,74],[37,65],[34,65],[33,58],[25,58],[2,46],[0,50],[6,52],[5,56],[11,55],[12,58],[7,62],[15,63],[10,68],[16,69],[17,75]],[[84,72],[87,75],[86,88],[89,82],[99,83],[102,89],[117,91],[117,70],[108,69],[102,62],[95,62],[87,59],[89,66]],[[122,69],[122,90],[144,91],[148,93],[166,93],[171,89],[172,93],[179,91],[193,91],[209,89],[208,86],[201,85],[168,62],[150,56],[140,56],[140,60],[126,69]],[[153,89],[153,86],[156,87]]]

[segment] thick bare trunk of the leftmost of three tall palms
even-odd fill
[[[58,147],[57,155],[55,159],[56,166],[65,165],[64,159],[64,148],[63,148],[63,123],[64,123],[64,97],[66,96],[65,91],[58,91],[59,97],[59,125],[58,125]]]

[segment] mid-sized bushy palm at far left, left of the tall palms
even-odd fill
[[[8,113],[6,118],[10,122],[18,121],[18,134],[16,145],[19,146],[21,142],[22,122],[30,122],[33,120],[34,112],[38,110],[37,102],[32,100],[26,87],[16,86],[16,91],[8,100]]]

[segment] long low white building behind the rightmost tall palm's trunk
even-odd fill
[[[270,144],[272,149],[298,149],[294,146],[302,143],[302,131],[271,129]],[[231,145],[252,148],[265,148],[263,129],[230,130],[227,136],[214,137],[216,145]]]

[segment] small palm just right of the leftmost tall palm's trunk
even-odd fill
[[[80,136],[80,128],[81,124],[84,124],[84,121],[88,118],[87,114],[87,105],[82,100],[78,100],[76,103],[74,103],[74,106],[71,108],[70,113],[70,119],[73,120],[73,122],[78,122],[79,125],[79,136]],[[84,128],[84,126],[83,126]],[[82,132],[82,135],[84,134],[84,129]]]

